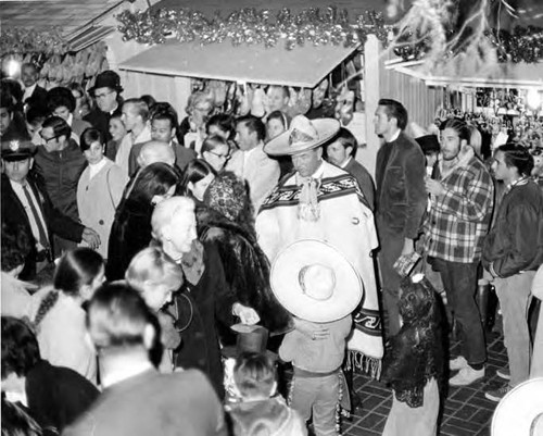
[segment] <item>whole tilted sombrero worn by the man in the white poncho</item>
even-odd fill
[[[331,139],[339,128],[340,123],[334,119],[310,120],[296,115],[290,128],[266,144],[264,151],[270,155],[286,155],[311,150]]]

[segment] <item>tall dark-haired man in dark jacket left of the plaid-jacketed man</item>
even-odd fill
[[[383,302],[389,314],[389,335],[400,331],[397,308],[401,277],[394,262],[414,251],[426,210],[425,155],[403,130],[407,111],[395,100],[379,100],[375,113],[375,133],[384,139],[377,152],[377,229]]]

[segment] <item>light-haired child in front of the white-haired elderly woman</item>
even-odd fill
[[[137,253],[126,271],[126,281],[138,290],[160,324],[160,342],[151,350],[151,360],[160,372],[174,370],[173,351],[181,344],[176,320],[165,307],[172,302],[172,294],[182,285],[181,267],[159,247],[149,247]]]

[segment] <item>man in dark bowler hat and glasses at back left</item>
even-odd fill
[[[121,77],[111,70],[100,73],[97,76],[94,86],[89,89],[90,96],[94,99],[96,107],[84,120],[92,124],[94,128],[98,128],[106,142],[112,138],[110,134],[110,119],[113,114],[121,114],[123,102],[121,92],[123,92]]]

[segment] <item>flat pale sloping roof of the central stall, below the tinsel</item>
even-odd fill
[[[306,45],[286,50],[282,41],[229,48],[229,41],[201,46],[168,41],[121,63],[121,70],[255,84],[315,87],[355,49]]]

